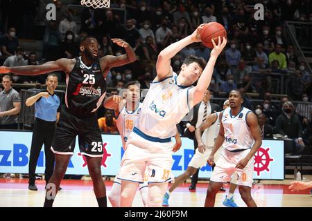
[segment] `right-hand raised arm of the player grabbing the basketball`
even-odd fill
[[[193,93],[194,105],[198,104],[198,102],[202,100],[202,97],[204,97],[205,90],[207,90],[211,81],[212,73],[214,72],[214,65],[216,64],[216,59],[220,55],[220,52],[222,52],[223,48],[226,46],[227,39],[223,37],[223,41],[221,44],[220,37],[218,37],[218,45],[215,44],[214,39],[212,39],[212,44],[214,45],[214,49],[211,50],[207,66],[202,71],[202,75],[200,75],[197,85],[191,88],[191,90],[193,91],[190,91],[191,93]]]

